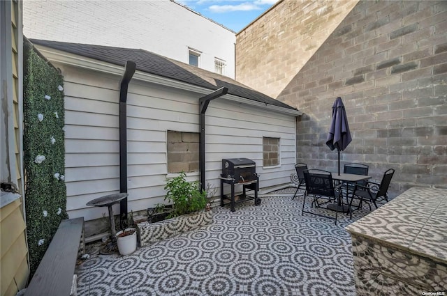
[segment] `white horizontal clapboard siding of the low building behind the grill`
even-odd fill
[[[107,209],[85,204],[119,191],[120,77],[55,65],[65,79],[68,215],[96,219],[107,215]],[[200,96],[131,81],[127,99],[129,211],[163,201],[168,176],[166,131],[198,132]],[[295,117],[223,98],[210,102],[206,115],[205,169],[210,185],[220,188],[221,159],[230,157],[254,159],[261,187],[290,181],[295,163]],[[281,166],[262,167],[263,137],[281,138]],[[189,180],[198,178],[198,173],[189,176]],[[118,205],[115,210],[118,212]]]

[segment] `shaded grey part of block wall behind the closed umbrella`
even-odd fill
[[[287,52],[287,48],[283,49]],[[390,191],[447,187],[447,1],[360,1],[279,95],[305,113],[297,162],[334,171],[325,140],[341,97],[353,141],[342,165],[369,164]]]

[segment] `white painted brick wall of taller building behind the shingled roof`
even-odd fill
[[[235,32],[179,3],[163,1],[24,1],[24,35],[63,42],[141,48],[214,72],[214,58],[235,77]]]

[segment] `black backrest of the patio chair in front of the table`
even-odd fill
[[[306,182],[306,193],[317,196],[335,198],[332,174],[328,171],[311,169],[303,172]]]

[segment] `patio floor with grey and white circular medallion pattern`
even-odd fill
[[[352,220],[339,214],[337,225],[302,216],[294,191],[263,197],[259,206],[247,201],[235,212],[213,208],[213,224],[129,256],[93,251],[77,267],[78,295],[356,295],[344,226],[367,212]]]

